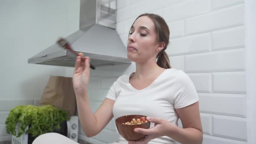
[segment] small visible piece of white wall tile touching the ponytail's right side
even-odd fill
[[[169,60],[172,68],[184,71],[184,56],[170,56]]]

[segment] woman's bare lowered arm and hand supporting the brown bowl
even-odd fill
[[[146,134],[148,137],[142,141],[129,141],[129,144],[147,144],[154,138],[168,136],[181,144],[202,144],[203,130],[200,120],[198,102],[184,108],[176,109],[181,118],[183,128],[179,128],[173,123],[154,117],[147,117],[148,121],[155,123],[149,129],[135,128],[135,132]]]

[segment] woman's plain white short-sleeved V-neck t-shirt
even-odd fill
[[[146,115],[163,118],[178,125],[175,108],[183,108],[198,101],[194,83],[182,70],[166,69],[148,87],[137,90],[129,83],[131,75],[122,75],[109,89],[106,98],[115,101],[114,118],[123,115]],[[151,127],[154,123],[151,123]],[[123,137],[119,139],[124,140]],[[170,137],[158,137],[148,144],[175,144]]]

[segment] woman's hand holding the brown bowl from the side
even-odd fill
[[[148,136],[141,141],[129,141],[128,144],[148,144],[148,142],[152,139],[164,136],[173,131],[175,127],[177,127],[170,121],[161,118],[147,117],[147,121],[155,123],[154,127],[149,129],[135,128],[134,131],[141,134],[146,134]]]

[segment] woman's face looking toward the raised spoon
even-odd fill
[[[154,22],[148,16],[139,17],[128,37],[127,57],[133,62],[145,62],[156,58],[159,48]]]

